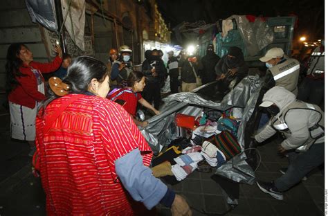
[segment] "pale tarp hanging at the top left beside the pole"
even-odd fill
[[[30,19],[51,31],[57,31],[55,3],[53,0],[25,0]]]

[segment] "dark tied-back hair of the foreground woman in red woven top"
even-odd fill
[[[100,60],[89,56],[80,56],[76,57],[70,64],[67,75],[62,82],[69,85],[69,93],[85,94],[93,78],[102,83],[106,75],[107,67]],[[40,109],[46,108],[51,101],[59,98],[51,88],[48,89],[48,98],[42,103]]]

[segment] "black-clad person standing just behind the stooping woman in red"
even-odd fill
[[[161,104],[161,87],[165,81],[166,68],[158,50],[145,51],[146,60],[143,62],[143,74],[146,77],[146,86],[143,90],[143,98],[159,109]]]

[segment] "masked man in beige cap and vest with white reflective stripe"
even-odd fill
[[[298,60],[286,57],[282,48],[277,47],[269,49],[259,60],[266,62],[266,67],[272,73],[276,87],[284,87],[297,95],[300,74]]]

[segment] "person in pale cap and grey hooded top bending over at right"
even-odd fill
[[[257,180],[257,186],[275,199],[282,200],[282,192],[289,190],[305,175],[325,161],[325,113],[317,105],[296,100],[284,89],[269,89],[259,105],[271,115],[269,123],[255,135],[262,143],[276,132],[284,134],[278,145],[280,154],[289,158],[288,168],[280,169],[282,177],[271,182]]]

